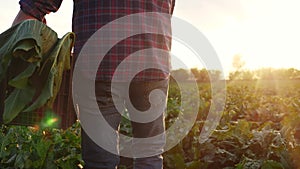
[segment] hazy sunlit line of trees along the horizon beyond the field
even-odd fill
[[[191,81],[195,79],[198,82],[209,82],[210,80],[224,80],[219,70],[207,70],[192,68],[177,69],[171,72],[173,79],[178,81]],[[300,70],[295,68],[275,69],[261,68],[257,70],[236,70],[230,72],[226,80],[291,80],[300,79]]]

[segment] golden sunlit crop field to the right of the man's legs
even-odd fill
[[[188,136],[165,153],[165,168],[300,167],[299,140],[296,140],[300,127],[299,81],[227,82],[222,119],[204,143],[199,143],[197,136],[208,112],[209,87],[198,85],[206,104],[199,109]]]

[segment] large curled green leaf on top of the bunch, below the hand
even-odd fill
[[[0,81],[13,57],[39,62],[57,42],[55,31],[37,20],[26,20],[0,34]],[[17,67],[14,67],[17,69]]]

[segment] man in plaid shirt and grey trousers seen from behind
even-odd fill
[[[45,23],[45,15],[50,12],[57,11],[61,2],[62,0],[20,0],[21,10],[13,24],[17,24],[26,19],[38,19]],[[175,0],[74,0],[72,23],[73,32],[76,34],[74,56],[78,57],[81,49],[84,47],[89,38],[106,24],[131,14],[144,12],[157,12],[171,15],[173,13],[174,4]],[[158,19],[158,22],[161,22],[161,24],[168,24],[168,26],[170,26],[169,21],[164,22],[163,19],[161,21]],[[158,32],[164,31],[164,28],[159,26],[160,24],[146,25],[149,23],[143,23],[143,21],[139,23],[128,23],[128,25],[123,29],[130,29],[132,26],[131,24],[145,24],[145,27],[150,26],[157,29]],[[171,37],[153,33],[144,33],[128,37],[112,47],[99,65],[95,79],[95,94],[97,97],[97,103],[106,121],[116,131],[119,128],[121,120],[120,113],[122,112],[117,110],[116,107],[119,105],[116,105],[112,98],[113,96],[118,97],[118,104],[124,104],[124,107],[126,108],[128,103],[126,103],[124,95],[128,94],[128,92],[117,92],[119,89],[116,89],[115,91],[111,90],[111,82],[115,70],[129,55],[149,48],[170,51]],[[89,56],[86,57],[86,59],[89,60]],[[93,61],[89,62],[91,63]],[[132,65],[149,64],[149,62],[159,64],[163,67],[163,70],[152,68],[146,69],[137,73],[135,78],[132,80],[129,90],[130,101],[134,107],[140,111],[145,111],[151,106],[148,100],[148,95],[152,90],[160,89],[166,94],[164,99],[166,99],[167,96],[168,78],[170,73],[170,56],[168,54],[160,56],[155,55],[153,57],[140,56],[139,59],[134,60]],[[84,69],[85,70],[83,70],[83,72],[88,74],[88,64]],[[118,79],[119,83],[116,86],[122,86],[122,81],[126,81],[128,79],[128,77],[126,77],[127,73],[127,71],[120,73],[121,78]],[[89,79],[87,78],[87,80]],[[92,101],[89,100],[89,93],[86,93],[85,91],[79,91],[78,93],[79,97],[84,98],[87,102]],[[82,105],[79,109],[80,113],[92,113],[95,111],[85,105]],[[147,138],[163,133],[163,112],[158,113],[161,115],[151,122],[144,123],[132,121],[133,137]],[[131,114],[131,116],[134,115]],[[115,142],[117,142],[117,140],[115,140]],[[145,149],[143,148],[143,151],[159,149],[155,151],[162,153],[164,144],[165,138],[162,138],[159,142],[148,143],[145,145]],[[111,169],[116,168],[119,163],[118,155],[100,147],[84,130],[82,130],[82,157],[85,161],[85,168],[87,169]],[[134,168],[162,169],[162,155],[154,154],[150,157],[137,157],[134,159]]]

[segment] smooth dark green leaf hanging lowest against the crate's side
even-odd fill
[[[15,89],[5,100],[3,122],[11,122],[24,107],[29,104],[34,96],[33,88]]]

